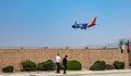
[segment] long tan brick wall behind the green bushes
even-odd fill
[[[13,65],[15,71],[21,71],[21,62],[31,60],[36,63],[52,60],[57,53],[63,58],[68,55],[68,60],[78,60],[82,63],[83,68],[90,67],[95,61],[103,60],[107,64],[114,61],[122,61],[126,66],[129,65],[129,54],[120,53],[118,49],[107,50],[88,50],[88,49],[0,49],[0,71],[2,67]]]

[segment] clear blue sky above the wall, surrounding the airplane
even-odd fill
[[[78,23],[96,25],[73,29]],[[0,47],[86,47],[131,38],[131,0],[0,0]]]

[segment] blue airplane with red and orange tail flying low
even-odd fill
[[[86,29],[86,28],[90,28],[90,27],[96,25],[95,22],[96,22],[96,17],[94,17],[90,23],[85,23],[85,24],[78,24],[76,22],[74,22],[74,24],[72,25],[72,28]]]

